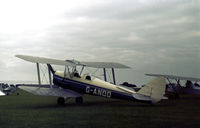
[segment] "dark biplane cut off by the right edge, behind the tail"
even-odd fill
[[[198,82],[200,78],[182,77],[174,75],[161,75],[161,74],[146,74],[147,76],[164,77],[167,79],[168,84],[166,91],[174,94],[174,98],[178,98],[179,94],[195,94],[200,95],[200,85]],[[172,80],[175,80],[173,82]],[[185,84],[182,84],[185,81]]]

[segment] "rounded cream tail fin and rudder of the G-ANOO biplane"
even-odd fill
[[[147,85],[141,88],[137,93],[150,97],[151,102],[154,104],[163,98],[166,84],[167,83],[164,77],[158,77],[150,81]]]

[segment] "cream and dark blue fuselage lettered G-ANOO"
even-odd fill
[[[70,76],[71,75],[71,76]],[[91,79],[88,75],[72,76],[73,74],[57,71],[54,74],[54,84],[76,91],[80,94],[89,94],[95,96],[102,96],[106,98],[117,98],[124,100],[135,100],[133,97],[134,91],[127,92],[117,88],[117,85],[105,82],[98,78]],[[131,90],[129,90],[131,91]]]

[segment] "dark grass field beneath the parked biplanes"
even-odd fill
[[[200,127],[200,96],[183,95],[155,106],[85,96],[81,105],[70,99],[61,107],[56,97],[18,92],[0,97],[0,128]]]

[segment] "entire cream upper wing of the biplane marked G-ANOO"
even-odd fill
[[[16,55],[16,57],[34,62],[34,63],[45,63],[45,64],[55,64],[55,65],[66,65],[66,66],[88,66],[93,68],[130,68],[126,65],[115,63],[115,62],[79,62],[77,60],[57,60],[44,57],[34,57],[27,55]]]

